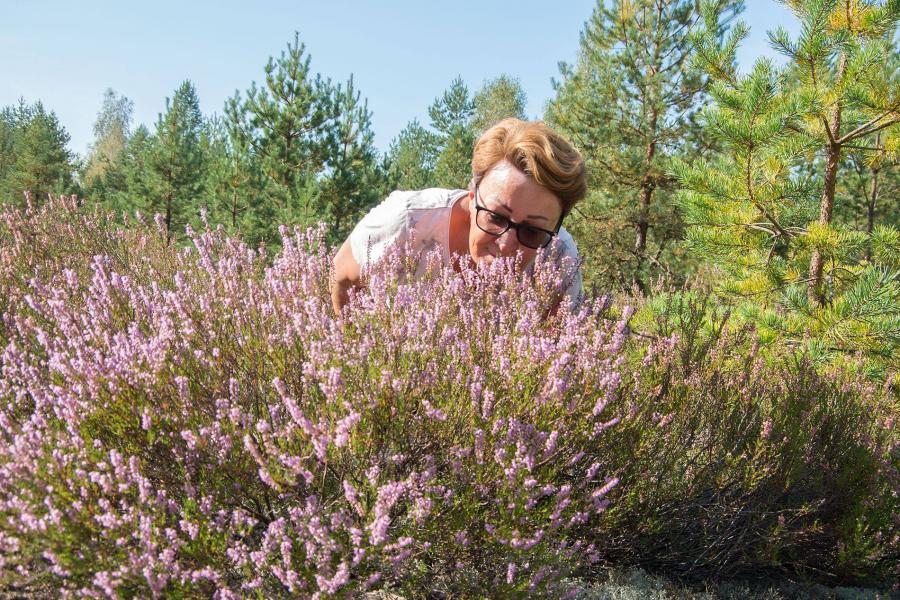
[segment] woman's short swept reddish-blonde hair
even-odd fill
[[[553,192],[562,203],[563,216],[587,193],[581,154],[543,121],[504,119],[485,131],[475,143],[469,187],[474,190],[504,159]]]

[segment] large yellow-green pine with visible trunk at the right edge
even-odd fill
[[[900,238],[889,225],[867,234],[832,215],[842,153],[898,146],[900,89],[882,66],[900,3],[789,6],[799,39],[770,35],[791,59],[785,69],[761,59],[736,72],[743,26],[724,43],[698,37],[698,62],[716,79],[705,131],[723,153],[674,164],[688,243],[721,269],[722,296],[764,340],[805,345],[823,360],[862,351],[883,367],[900,348]]]

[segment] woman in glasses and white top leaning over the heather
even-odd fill
[[[477,264],[521,252],[528,268],[559,238],[561,256],[577,258],[562,220],[586,191],[584,161],[569,142],[540,121],[505,119],[475,143],[468,190],[394,192],[357,224],[334,259],[334,310],[394,243],[437,248],[445,265],[451,253]],[[580,273],[566,293],[581,293]]]

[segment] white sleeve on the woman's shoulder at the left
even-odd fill
[[[393,192],[372,208],[350,232],[350,250],[363,272],[377,263],[392,244],[407,241],[408,196],[408,192]]]

